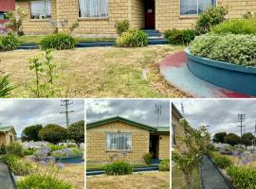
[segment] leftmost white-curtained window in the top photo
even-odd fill
[[[31,19],[51,18],[50,0],[30,1]]]

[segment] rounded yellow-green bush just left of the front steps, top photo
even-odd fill
[[[123,32],[117,40],[121,47],[142,47],[148,44],[147,34],[141,30],[128,30]]]

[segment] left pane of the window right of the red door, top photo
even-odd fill
[[[197,0],[180,0],[180,15],[197,14]]]

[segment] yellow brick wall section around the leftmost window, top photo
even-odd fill
[[[54,31],[48,19],[30,19],[29,1],[17,0],[16,9],[18,7],[24,9],[27,13],[27,19],[23,24],[23,30],[26,34],[46,34]],[[56,20],[56,16],[56,0],[51,0],[51,17],[53,20]]]

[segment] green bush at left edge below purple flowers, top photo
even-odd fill
[[[15,50],[19,46],[19,41],[14,34],[0,36],[0,51]]]

